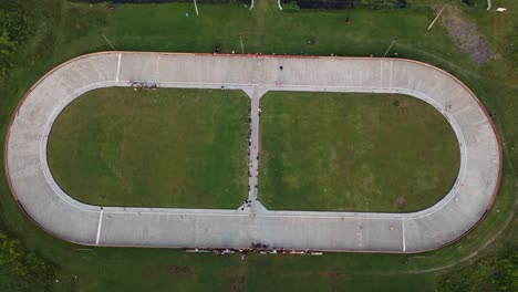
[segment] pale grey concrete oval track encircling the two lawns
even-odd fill
[[[272,211],[258,201],[246,210],[79,202],[61,190],[49,169],[52,124],[81,94],[130,86],[132,81],[159,87],[244,90],[255,108],[256,145],[257,108],[267,91],[412,95],[433,105],[452,125],[459,143],[458,177],[436,205],[412,213]],[[14,198],[41,228],[80,244],[117,247],[248,248],[260,242],[322,251],[422,252],[448,244],[474,228],[491,207],[501,177],[496,128],[464,84],[424,63],[374,58],[139,52],[79,56],[44,75],[20,102],[8,129],[4,161]]]

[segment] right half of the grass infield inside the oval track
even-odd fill
[[[259,199],[269,208],[416,211],[457,177],[452,127],[415,97],[272,92],[261,106]]]

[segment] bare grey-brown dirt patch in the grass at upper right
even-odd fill
[[[443,19],[443,25],[446,27],[449,38],[469,55],[472,62],[481,65],[495,58],[495,53],[478,33],[475,24],[464,21],[454,13],[448,14]]]

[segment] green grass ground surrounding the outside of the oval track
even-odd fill
[[[112,50],[100,34],[104,31],[118,50],[166,52],[211,52],[215,44],[220,44],[225,52],[239,52],[241,35],[246,53],[382,56],[393,38],[397,38],[392,52],[453,73],[497,113],[495,122],[504,142],[503,184],[487,218],[465,239],[422,254],[258,254],[242,261],[238,255],[189,254],[167,249],[85,248],[55,239],[34,226],[1,180],[0,226],[55,263],[59,282],[53,281],[53,290],[436,291],[443,279],[463,277],[465,271],[477,275],[480,270],[470,265],[475,261],[518,248],[516,228],[504,231],[486,248],[507,223],[518,226],[517,219],[509,219],[518,196],[518,88],[512,59],[514,48],[518,48],[518,1],[493,1],[494,7],[506,7],[506,13],[486,11],[485,1],[478,1],[476,8],[467,8],[460,1],[433,0],[416,10],[298,12],[280,12],[274,9],[274,1],[265,7],[258,3],[266,1],[256,1],[252,11],[241,6],[199,4],[200,17],[189,19],[184,13],[189,11],[194,15],[190,3],[128,4],[108,10],[104,4],[91,8],[63,0],[29,1],[35,34],[20,45],[17,69],[0,86],[2,137],[17,103],[40,76],[73,56]],[[426,30],[444,2],[452,3],[459,17],[477,25],[497,59],[476,66],[449,40],[441,22]],[[342,24],[348,17],[352,27]],[[315,42],[308,45],[311,36]],[[458,273],[460,270],[463,274]],[[464,278],[459,280],[463,282]],[[463,283],[468,290],[470,283]]]

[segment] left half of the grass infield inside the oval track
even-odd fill
[[[51,171],[93,205],[237,208],[247,197],[248,104],[240,91],[87,92],[52,127]]]

